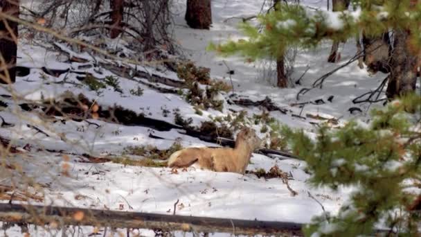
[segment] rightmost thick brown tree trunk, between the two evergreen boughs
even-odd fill
[[[418,57],[409,49],[409,31],[395,30],[391,73],[389,74],[386,96],[391,99],[415,90]]]

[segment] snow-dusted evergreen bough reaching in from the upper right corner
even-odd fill
[[[240,29],[247,40],[210,44],[208,50],[220,55],[240,54],[251,62],[278,58],[291,46],[314,48],[322,40],[338,42],[357,37],[382,35],[390,29],[411,32],[408,43],[414,53],[421,49],[421,4],[410,0],[352,0],[352,11],[328,12],[298,4],[280,2],[278,10],[258,16],[258,26],[245,22]],[[260,27],[262,26],[262,27]]]

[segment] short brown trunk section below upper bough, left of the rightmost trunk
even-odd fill
[[[372,73],[391,71],[391,39],[388,32],[379,37],[368,37],[363,33],[364,63]]]

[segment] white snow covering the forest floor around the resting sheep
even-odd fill
[[[314,132],[314,125],[310,122],[320,123],[315,119],[299,119],[292,114],[313,114],[327,118],[339,119],[339,125],[352,118],[365,119],[368,105],[354,105],[351,100],[356,96],[375,89],[386,75],[377,73],[370,76],[365,69],[359,69],[357,62],[350,64],[334,73],[325,80],[323,89],[313,89],[300,100],[296,94],[303,87],[310,87],[312,82],[324,73],[331,71],[355,55],[355,42],[341,45],[342,57],[338,64],[327,63],[330,51],[330,42],[325,42],[317,49],[299,51],[296,58],[294,78],[303,76],[302,86],[291,89],[278,89],[261,78],[262,64],[245,63],[239,57],[219,58],[215,53],[205,51],[209,42],[224,42],[229,38],[242,37],[235,26],[238,19],[231,17],[248,17],[256,15],[262,8],[263,1],[257,0],[213,0],[213,27],[211,30],[192,30],[183,20],[185,9],[184,0],[176,0],[174,12],[179,13],[175,19],[174,33],[177,42],[181,44],[187,58],[198,65],[211,68],[213,78],[222,78],[229,82],[229,69],[234,70],[232,80],[235,93],[248,96],[251,99],[263,99],[269,96],[276,105],[288,109],[287,114],[270,112],[270,116],[280,123],[294,128],[304,128]],[[312,7],[325,8],[325,1],[303,1]],[[116,40],[117,41],[117,40]],[[109,42],[118,44],[118,42]],[[18,77],[12,85],[14,93],[6,87],[0,88],[1,95],[19,94],[23,98],[2,98],[9,104],[0,115],[13,127],[0,128],[1,137],[12,139],[21,150],[8,157],[10,164],[19,164],[25,175],[42,184],[44,188],[37,190],[44,195],[43,204],[55,204],[69,207],[88,207],[95,209],[111,209],[121,211],[144,211],[150,213],[172,213],[174,202],[179,200],[177,214],[186,216],[208,216],[217,218],[238,218],[249,220],[278,220],[288,222],[310,222],[312,216],[320,215],[322,208],[336,213],[343,202],[346,202],[351,188],[340,188],[334,192],[328,189],[314,188],[306,183],[309,177],[304,172],[305,162],[297,159],[274,159],[264,155],[253,154],[251,164],[247,170],[264,168],[269,170],[277,165],[284,172],[290,173],[291,188],[298,195],[291,195],[287,186],[281,179],[258,178],[256,175],[239,175],[235,173],[214,173],[205,170],[188,169],[174,173],[170,168],[147,168],[139,166],[125,166],[111,162],[93,164],[86,161],[82,154],[89,153],[96,156],[111,155],[116,157],[128,146],[152,145],[159,149],[169,148],[174,141],[181,141],[183,147],[189,146],[217,146],[206,143],[194,137],[183,134],[182,130],[156,131],[135,125],[120,125],[107,123],[96,119],[86,121],[66,121],[61,123],[48,122],[42,113],[26,112],[18,106],[24,100],[39,100],[41,98],[57,98],[65,91],[73,94],[84,94],[90,100],[95,100],[101,106],[120,105],[145,116],[174,123],[174,109],[179,109],[185,118],[192,118],[192,125],[199,125],[202,121],[209,121],[209,116],[226,116],[233,114],[230,110],[244,109],[248,116],[262,114],[257,107],[239,107],[226,105],[222,112],[210,109],[204,114],[196,114],[195,108],[177,94],[163,94],[134,80],[121,78],[107,69],[96,67],[79,69],[81,63],[65,63],[64,55],[54,50],[46,50],[28,43],[19,45],[20,66],[32,67],[30,74]],[[87,56],[88,57],[88,56]],[[65,57],[64,57],[65,58]],[[88,57],[89,58],[89,57]],[[87,63],[89,64],[89,63]],[[228,67],[226,66],[228,65]],[[93,76],[105,78],[114,76],[120,82],[123,93],[107,87],[101,89],[100,95],[90,91],[86,85],[78,80],[77,73],[63,73],[59,77],[48,76],[42,67],[50,69],[71,69],[73,71],[86,71]],[[177,80],[174,73],[157,72],[153,68],[145,69],[149,72],[162,73]],[[137,78],[142,80],[142,78]],[[66,83],[55,83],[66,80]],[[80,85],[80,86],[76,86]],[[140,87],[142,96],[134,96],[130,89]],[[332,102],[329,96],[334,96]],[[291,106],[292,103],[314,101],[323,98],[325,104],[308,104],[303,107]],[[380,106],[380,105],[377,105]],[[350,114],[350,107],[360,107],[359,114]],[[164,112],[168,110],[170,113]],[[29,128],[34,125],[43,132]],[[254,128],[260,129],[258,125]],[[165,139],[154,139],[150,134]],[[260,134],[263,135],[263,134]],[[31,146],[26,146],[30,144]],[[24,149],[25,148],[25,149]],[[46,148],[39,150],[38,148]],[[60,151],[60,152],[59,152]],[[64,158],[68,154],[69,160]],[[132,157],[141,159],[142,157]],[[69,176],[62,175],[63,169],[69,171]],[[10,179],[1,177],[3,185],[9,185]],[[7,202],[5,200],[4,202]],[[17,229],[9,229],[9,234],[17,234]]]

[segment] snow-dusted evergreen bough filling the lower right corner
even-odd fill
[[[390,230],[387,236],[421,235],[421,96],[374,109],[369,124],[322,126],[316,139],[287,127],[283,134],[307,162],[310,184],[355,188],[337,216],[314,218],[306,236],[359,236],[379,228]]]

